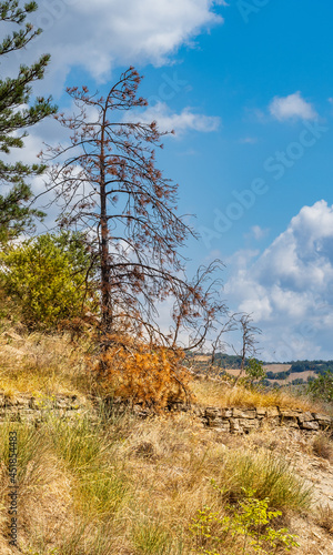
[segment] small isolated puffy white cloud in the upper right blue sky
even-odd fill
[[[290,119],[315,120],[317,113],[310,102],[306,102],[297,91],[289,97],[274,97],[270,104],[271,114],[279,121]]]

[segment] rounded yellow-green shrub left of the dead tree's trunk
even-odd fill
[[[28,327],[50,329],[81,315],[90,266],[81,235],[41,235],[9,248],[0,262],[2,287]],[[88,297],[92,302],[92,290]]]

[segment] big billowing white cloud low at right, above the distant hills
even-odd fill
[[[333,359],[333,205],[303,206],[260,255],[229,261],[229,304],[253,313],[265,360]]]

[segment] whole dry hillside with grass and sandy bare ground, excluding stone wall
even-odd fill
[[[290,553],[332,553],[333,445],[327,433],[263,426],[230,434],[204,427],[191,411],[142,418],[130,410],[110,413],[105,404],[97,410],[91,402],[94,377],[82,362],[88,350],[87,340],[72,343],[65,336],[9,331],[0,337],[3,396],[16,407],[20,395],[29,393],[44,406],[44,417],[37,423],[11,421],[9,412],[1,412],[1,554],[242,554],[240,527],[232,538],[213,521],[222,542],[214,544],[202,535],[198,512],[209,506],[220,519],[235,523],[242,503],[251,505],[250,490],[282,512],[272,529],[286,527],[287,534],[299,536],[299,546]],[[282,392],[231,391],[210,381],[193,382],[191,391],[198,407],[323,411]],[[73,406],[83,407],[72,410],[70,420],[48,405],[52,396],[65,394],[75,397]],[[8,545],[10,432],[18,441],[20,549]],[[276,545],[278,553],[287,553]],[[273,553],[272,546],[266,548]],[[252,553],[248,543],[246,554]]]

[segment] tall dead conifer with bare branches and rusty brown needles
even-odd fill
[[[148,104],[137,95],[140,81],[131,67],[105,98],[87,87],[67,90],[78,111],[56,115],[70,139],[41,153],[50,164],[47,190],[61,205],[59,224],[89,236],[100,274],[103,334],[117,333],[125,322],[132,336],[175,346],[186,330],[193,347],[225,314],[212,280],[220,263],[199,269],[191,282],[185,278],[179,249],[193,232],[176,215],[178,185],[155,165],[165,133],[155,121],[131,120],[133,108]],[[158,309],[171,300],[173,324],[163,331]]]

